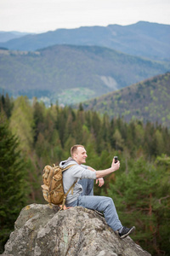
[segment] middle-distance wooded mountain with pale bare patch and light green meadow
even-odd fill
[[[164,62],[99,46],[55,45],[35,52],[0,50],[0,93],[71,104],[169,69]]]

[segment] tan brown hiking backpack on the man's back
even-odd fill
[[[71,165],[75,166],[75,165]],[[65,206],[66,196],[71,193],[73,194],[73,188],[77,181],[72,184],[71,188],[64,192],[63,189],[63,172],[68,170],[71,166],[66,166],[65,169],[60,168],[59,166],[45,166],[43,169],[43,185],[42,185],[42,195],[48,203],[53,203],[54,205],[61,205],[62,209]]]

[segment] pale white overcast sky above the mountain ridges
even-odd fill
[[[0,0],[0,31],[47,32],[139,20],[170,25],[170,0]]]

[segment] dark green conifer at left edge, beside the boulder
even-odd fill
[[[26,203],[26,169],[17,149],[17,138],[0,115],[0,251],[14,229],[14,221]]]

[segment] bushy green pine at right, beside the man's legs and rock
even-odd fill
[[[162,165],[160,169],[146,162],[143,157],[130,160],[128,170],[117,171],[116,182],[110,183],[107,191],[115,201],[122,224],[134,224],[137,231],[133,240],[153,255],[161,255],[163,250],[168,252],[169,171]]]

